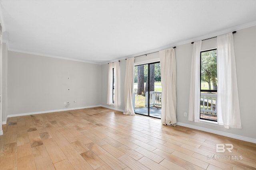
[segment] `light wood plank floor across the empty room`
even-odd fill
[[[1,170],[256,169],[256,144],[104,107],[11,117],[3,130]]]

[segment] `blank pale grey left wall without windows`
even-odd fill
[[[66,109],[64,102],[96,106],[100,98],[101,65],[9,51],[8,115]]]

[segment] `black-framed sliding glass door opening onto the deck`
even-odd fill
[[[161,118],[162,86],[160,63],[150,63],[134,68],[134,112]]]

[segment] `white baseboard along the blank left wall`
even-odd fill
[[[36,112],[29,112],[29,113],[18,113],[13,115],[7,115],[7,117],[16,117],[16,116],[26,116],[26,115],[36,115],[36,114],[42,114],[42,113],[51,113],[51,112],[57,112],[57,111],[68,111],[68,110],[76,110],[76,109],[86,109],[91,107],[100,107],[101,105],[96,106],[84,106],[84,107],[72,107],[72,108],[66,108],[66,109],[57,109],[57,110],[47,110],[47,111],[36,111]],[[6,124],[6,123],[5,123]]]

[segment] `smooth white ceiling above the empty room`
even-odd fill
[[[238,25],[256,25],[255,0],[0,0],[0,4],[9,50],[97,64]]]

